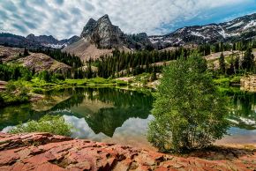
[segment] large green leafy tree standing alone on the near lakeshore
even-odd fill
[[[155,93],[147,138],[160,151],[192,150],[226,134],[227,100],[217,92],[207,62],[195,55],[171,63]]]

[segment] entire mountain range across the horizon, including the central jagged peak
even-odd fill
[[[90,53],[83,52],[87,50],[88,46],[98,52],[102,49],[108,51],[108,49],[113,48],[133,51],[190,44],[199,45],[218,41],[243,41],[255,37],[256,13],[218,24],[184,26],[164,35],[150,36],[147,36],[147,33],[126,34],[118,26],[112,25],[109,16],[106,14],[98,20],[89,19],[80,36],[73,36],[70,39],[58,41],[52,35],[35,36],[34,34],[29,34],[23,37],[12,33],[0,33],[0,45],[22,48],[64,48],[64,50],[72,51],[73,53],[79,48],[78,54],[80,56],[83,56],[82,54],[87,54],[88,56]],[[92,48],[92,46],[94,47]],[[82,47],[85,49],[80,49]],[[95,56],[97,54],[94,53]],[[104,55],[105,53],[100,54]]]

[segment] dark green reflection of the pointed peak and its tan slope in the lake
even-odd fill
[[[73,114],[65,115],[85,117],[96,134],[102,132],[109,137],[131,117],[147,119],[153,102],[150,95],[110,88],[87,89],[84,93],[79,93],[82,94],[84,99],[79,100],[79,104],[71,107],[72,101],[79,99],[72,96],[71,99],[56,105],[55,109],[70,104],[69,108]]]

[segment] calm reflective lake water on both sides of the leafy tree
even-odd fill
[[[154,119],[150,115],[150,94],[112,88],[71,88],[46,95],[46,100],[34,104],[0,108],[0,130],[7,131],[46,114],[64,115],[75,127],[73,138],[154,149],[146,136],[147,123]],[[241,93],[230,99],[230,136],[218,143],[256,143],[256,94]]]

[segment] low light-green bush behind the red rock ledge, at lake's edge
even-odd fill
[[[9,131],[11,134],[30,132],[49,132],[55,135],[71,136],[72,125],[65,123],[64,117],[60,115],[45,115],[39,121],[20,123]]]

